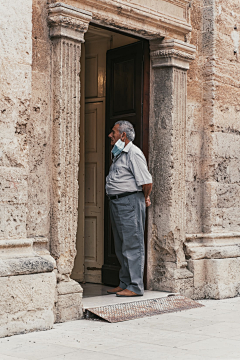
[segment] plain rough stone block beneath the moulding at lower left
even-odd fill
[[[56,275],[34,274],[0,278],[0,337],[53,325]]]

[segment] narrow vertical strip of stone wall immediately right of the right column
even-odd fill
[[[203,179],[203,75],[202,75],[202,0],[192,2],[192,32],[189,41],[196,46],[196,58],[187,75],[186,121],[186,232],[202,232]]]

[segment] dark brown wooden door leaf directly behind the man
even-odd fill
[[[130,121],[136,132],[135,145],[147,157],[148,149],[148,42],[139,41],[107,52],[106,143],[105,170],[111,164],[111,145],[108,138],[114,123],[120,119]],[[119,284],[119,263],[115,255],[111,231],[109,204],[105,197],[104,265],[102,282]]]

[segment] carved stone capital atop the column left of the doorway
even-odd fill
[[[63,3],[50,4],[48,7],[48,25],[51,38],[69,38],[84,41],[92,14]]]

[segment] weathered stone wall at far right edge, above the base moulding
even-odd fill
[[[209,124],[212,161],[208,171],[214,206],[206,226],[213,232],[240,232],[240,2],[216,1],[214,20],[214,113]]]

